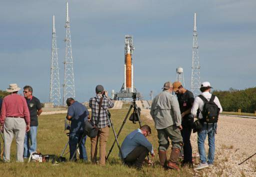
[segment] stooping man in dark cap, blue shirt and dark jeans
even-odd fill
[[[76,150],[77,143],[83,136],[84,132],[84,120],[88,119],[89,112],[87,108],[78,101],[75,101],[73,98],[69,97],[66,99],[66,104],[68,106],[66,119],[71,121],[70,124],[70,134],[69,134],[69,149],[70,149],[70,157],[73,156]],[[87,153],[85,149],[85,140],[84,137],[79,145],[79,158],[83,160],[87,160]],[[74,155],[74,160],[76,159],[76,154]]]

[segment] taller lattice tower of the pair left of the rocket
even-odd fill
[[[68,3],[66,2],[66,43],[65,59],[64,59],[64,84],[63,84],[63,105],[68,97],[75,97],[74,92],[74,73],[73,73],[73,58],[71,50],[71,37],[70,37],[70,21],[68,16]]]

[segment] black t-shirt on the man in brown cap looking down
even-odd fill
[[[177,98],[178,98],[180,113],[192,107],[194,102],[194,96],[191,91],[186,90],[186,92],[184,92],[183,94],[177,94]],[[182,124],[185,123],[185,121],[188,118],[188,115],[189,113],[183,117]]]

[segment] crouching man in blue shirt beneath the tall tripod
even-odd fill
[[[145,136],[148,136],[150,133],[151,128],[148,125],[143,125],[124,138],[119,156],[121,156],[120,153],[122,153],[125,164],[141,168],[142,162],[145,160],[148,152],[154,156],[153,146],[147,138],[145,138]]]

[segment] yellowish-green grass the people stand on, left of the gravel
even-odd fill
[[[127,109],[111,110],[112,121],[116,133],[123,121]],[[68,137],[65,135],[64,129],[65,114],[41,115],[39,117],[39,127],[37,134],[37,150],[42,154],[60,155]],[[149,141],[152,142],[156,156],[152,159],[155,162],[154,167],[144,166],[138,171],[134,168],[129,168],[121,164],[118,158],[118,148],[115,145],[105,166],[91,164],[90,162],[62,162],[57,165],[52,165],[50,162],[44,163],[23,163],[15,162],[16,145],[13,139],[11,145],[11,162],[0,162],[0,176],[193,176],[194,172],[189,168],[182,168],[180,171],[163,170],[159,166],[157,155],[157,136],[153,122],[141,117],[142,124],[149,124],[152,128],[152,135]],[[138,128],[138,123],[133,124],[127,120],[119,137],[120,143],[126,134],[133,129]],[[113,133],[110,131],[107,142],[107,149],[114,140]],[[90,159],[90,139],[86,140],[86,150],[88,159]],[[169,151],[169,150],[168,150]],[[69,157],[69,153],[66,155]]]

